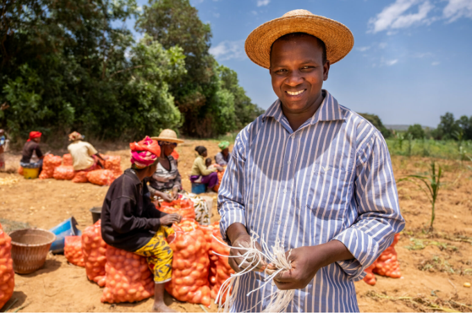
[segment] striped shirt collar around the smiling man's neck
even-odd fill
[[[344,114],[342,114],[341,107],[336,101],[336,99],[329,94],[326,89],[322,89],[324,94],[324,100],[318,110],[313,114],[310,124],[315,124],[318,121],[335,121],[335,120],[344,120]],[[277,99],[268,110],[262,115],[263,121],[265,118],[272,116],[277,121],[281,122],[282,117],[284,117],[280,99]]]

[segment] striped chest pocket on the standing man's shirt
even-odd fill
[[[313,165],[307,207],[316,218],[341,220],[351,200],[353,173],[331,165]]]

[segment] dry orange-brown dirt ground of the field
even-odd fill
[[[204,145],[213,157],[218,152],[216,141],[186,141],[177,147],[179,168],[184,189],[190,190],[189,173],[197,145]],[[62,155],[65,151],[53,151]],[[129,166],[125,146],[100,152],[121,155],[123,169]],[[19,155],[7,155],[7,168],[17,168]],[[396,180],[405,175],[428,171],[429,159],[393,157]],[[472,311],[472,171],[458,162],[439,160],[443,166],[444,186],[436,204],[435,231],[423,232],[430,219],[430,203],[417,186],[399,183],[401,211],[407,221],[396,245],[401,265],[401,279],[377,277],[376,286],[363,281],[356,283],[358,303],[362,312]],[[0,218],[50,229],[74,216],[79,229],[91,225],[89,209],[101,206],[107,187],[93,184],[50,180],[24,180],[16,174],[0,173],[11,180],[0,185]],[[216,194],[209,194],[216,196]],[[218,220],[216,204],[213,218]],[[87,280],[85,270],[69,265],[62,255],[52,254],[44,268],[28,275],[15,274],[15,293],[3,310],[15,299],[8,312],[145,312],[152,299],[137,304],[102,304],[102,288]],[[203,312],[200,306],[167,302],[180,312]],[[209,312],[216,312],[212,304]]]

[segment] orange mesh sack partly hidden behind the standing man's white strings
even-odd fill
[[[215,251],[218,254],[221,255],[229,255],[229,246],[223,244],[224,241],[221,237],[220,234],[220,229],[214,229],[213,230],[213,236],[218,238],[218,241],[213,238],[213,241],[211,242],[211,250]],[[234,274],[234,270],[231,268],[231,266],[228,263],[228,258],[225,256],[218,256],[218,260],[216,261],[216,279],[215,279],[215,284],[211,287],[211,297],[215,299],[216,302],[219,302],[219,300],[216,299],[216,296],[218,295],[218,291],[220,290],[222,284],[228,279],[231,274]],[[221,302],[225,303],[226,301],[226,294],[221,296]]]

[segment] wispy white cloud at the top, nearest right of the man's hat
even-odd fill
[[[418,6],[417,13],[405,14]],[[385,7],[376,17],[369,19],[369,33],[387,30],[392,35],[395,29],[408,28],[413,24],[428,23],[428,13],[434,8],[429,0],[396,0]]]

